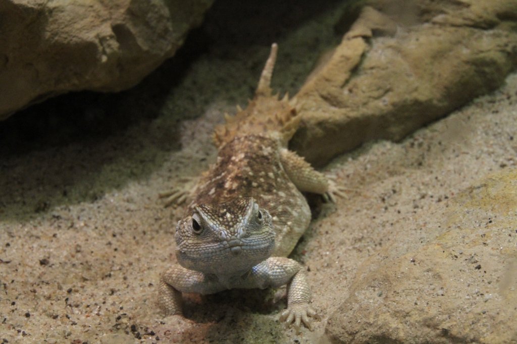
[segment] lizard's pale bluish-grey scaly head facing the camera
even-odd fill
[[[251,197],[194,207],[178,222],[175,239],[183,267],[218,275],[247,271],[275,247],[271,215]]]

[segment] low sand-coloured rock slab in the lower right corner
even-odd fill
[[[435,240],[400,255],[388,247],[362,264],[328,321],[330,339],[517,341],[516,180],[517,169],[485,177],[444,205],[448,230]]]

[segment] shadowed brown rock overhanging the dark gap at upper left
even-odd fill
[[[0,120],[69,91],[134,86],[213,0],[0,0]]]

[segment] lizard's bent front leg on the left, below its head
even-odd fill
[[[172,267],[160,276],[158,302],[165,316],[181,315],[181,293],[212,294],[224,290],[216,278],[183,267]]]

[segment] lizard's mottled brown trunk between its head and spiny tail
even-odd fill
[[[237,136],[223,145],[217,162],[202,177],[194,205],[253,197],[269,211],[276,232],[273,256],[287,256],[306,230],[311,212],[305,197],[288,178],[276,139],[263,134]]]

